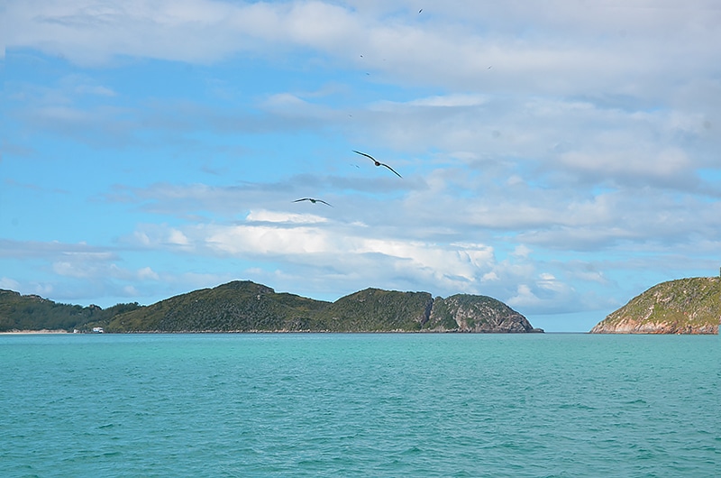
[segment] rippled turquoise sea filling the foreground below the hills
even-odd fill
[[[721,476],[719,336],[0,336],[0,476]]]

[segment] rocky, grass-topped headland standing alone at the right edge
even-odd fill
[[[721,281],[714,277],[662,282],[631,299],[591,334],[718,334]]]

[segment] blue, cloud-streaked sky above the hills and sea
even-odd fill
[[[0,42],[0,289],[468,293],[587,332],[719,273],[716,0],[5,1]]]

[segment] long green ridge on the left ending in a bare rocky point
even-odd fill
[[[459,295],[433,299],[428,292],[366,289],[335,302],[278,293],[251,281],[236,280],[161,300],[147,307],[80,308],[36,296],[12,299],[57,308],[48,320],[39,308],[17,308],[6,315],[5,330],[62,328],[105,332],[540,332],[521,314],[496,299]],[[10,296],[8,296],[10,297]],[[22,325],[22,326],[21,326]],[[2,330],[2,329],[0,329]]]

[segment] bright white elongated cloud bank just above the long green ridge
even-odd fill
[[[257,218],[253,213],[249,217]],[[260,216],[283,213],[264,211]],[[306,225],[283,220],[278,225],[194,225],[178,231],[165,226],[148,226],[134,234],[141,245],[164,249],[169,234],[182,234],[188,251],[208,256],[228,256],[245,260],[282,261],[304,267],[338,271],[378,270],[390,267],[402,276],[434,280],[445,290],[452,285],[462,290],[478,290],[495,265],[494,252],[484,244],[435,244],[373,237],[373,231],[339,224]],[[149,244],[150,242],[150,244]]]

